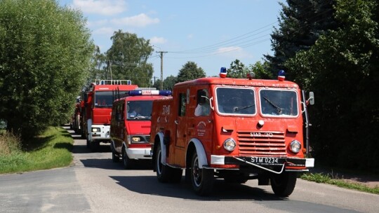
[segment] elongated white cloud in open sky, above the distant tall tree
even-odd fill
[[[157,24],[159,23],[159,18],[149,18],[145,13],[141,13],[140,15],[135,15],[126,18],[115,18],[111,20],[114,25],[126,25],[133,27],[145,27],[147,25]]]

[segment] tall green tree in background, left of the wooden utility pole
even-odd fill
[[[154,51],[150,41],[121,29],[111,39],[112,46],[106,53],[109,78],[128,79],[140,87],[148,87],[154,72],[152,64],[147,63]]]

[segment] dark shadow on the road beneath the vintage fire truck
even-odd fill
[[[161,195],[186,200],[287,200],[279,198],[272,192],[262,188],[255,188],[245,184],[228,184],[222,179],[216,179],[213,193],[208,197],[198,196],[192,191],[189,184],[185,183],[184,177],[179,184],[163,184],[155,176],[111,176],[117,184],[130,191],[149,195]]]

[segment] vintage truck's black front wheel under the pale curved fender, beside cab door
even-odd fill
[[[214,174],[213,170],[199,168],[199,158],[196,151],[191,161],[191,182],[192,188],[197,195],[206,196],[213,190]]]

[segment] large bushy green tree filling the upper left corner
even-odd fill
[[[0,1],[0,120],[29,139],[68,121],[93,53],[79,11],[56,1]]]

